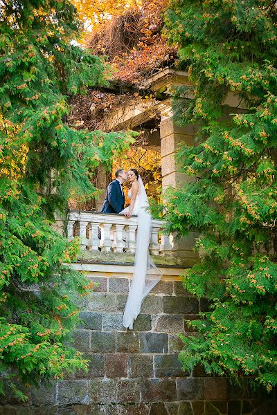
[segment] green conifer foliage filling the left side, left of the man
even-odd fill
[[[132,142],[66,124],[68,98],[107,83],[102,60],[73,42],[81,30],[68,0],[0,1],[0,369],[20,398],[18,385],[86,367],[65,344],[89,284],[64,265],[77,241],[51,222],[70,195],[96,194],[88,171]]]

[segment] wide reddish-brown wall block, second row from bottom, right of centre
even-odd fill
[[[141,382],[141,397],[144,402],[177,400],[175,380],[143,379]]]

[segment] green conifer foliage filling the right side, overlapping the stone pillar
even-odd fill
[[[184,369],[271,391],[277,384],[277,8],[269,0],[172,0],[167,36],[193,91],[179,89],[179,122],[198,127],[181,145],[193,183],[171,190],[168,228],[200,235],[184,287],[211,311],[184,338]],[[188,99],[193,92],[193,99]],[[238,107],[228,107],[231,96]],[[234,107],[234,106],[233,106]]]

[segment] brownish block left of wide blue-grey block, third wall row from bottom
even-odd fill
[[[127,371],[128,378],[153,378],[153,356],[142,353],[129,354]]]

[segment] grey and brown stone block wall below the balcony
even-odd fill
[[[178,277],[164,276],[145,299],[134,331],[126,331],[122,317],[130,274],[94,275],[89,279],[98,287],[83,299],[83,323],[74,334],[89,371],[33,389],[21,405],[8,405],[6,398],[1,415],[277,414],[275,400],[263,403],[247,387],[205,377],[200,368],[193,374],[181,370],[177,333],[189,333],[184,317],[194,320],[208,303],[186,293]]]

